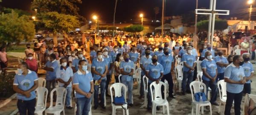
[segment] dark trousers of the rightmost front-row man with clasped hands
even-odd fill
[[[227,92],[227,101],[226,101],[226,106],[225,106],[225,112],[224,115],[230,115],[230,110],[233,105],[233,101],[235,102],[235,115],[241,115],[241,101],[243,98],[243,92],[240,93],[230,93]]]

